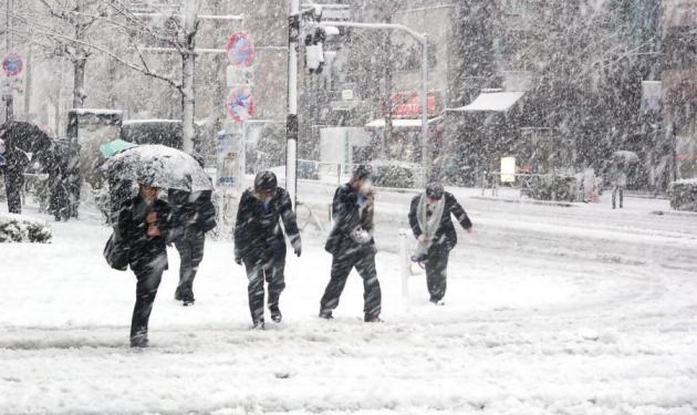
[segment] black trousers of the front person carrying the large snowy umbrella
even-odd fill
[[[136,303],[131,321],[131,339],[147,335],[147,323],[153,311],[157,288],[163,279],[167,257],[156,258],[150,266],[139,267],[134,270],[136,279]]]

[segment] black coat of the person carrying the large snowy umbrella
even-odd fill
[[[147,214],[157,212],[155,226],[160,236],[147,236]],[[117,239],[128,250],[128,264],[138,272],[149,268],[153,261],[164,261],[167,269],[167,236],[170,229],[171,210],[166,201],[156,199],[148,205],[138,195],[126,201],[118,215]]]

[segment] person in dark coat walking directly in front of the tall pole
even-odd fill
[[[254,187],[240,198],[235,226],[235,261],[245,263],[249,279],[249,310],[254,329],[263,330],[264,279],[269,283],[271,319],[282,320],[279,298],[285,289],[285,237],[281,221],[298,257],[302,252],[300,230],[288,193],[278,187],[275,175],[261,172]]]

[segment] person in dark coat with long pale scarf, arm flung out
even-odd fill
[[[465,230],[471,231],[472,222],[467,212],[455,196],[444,190],[443,185],[430,184],[426,186],[424,194],[412,200],[409,225],[418,240],[417,252],[412,259],[425,262],[428,293],[434,304],[443,304],[448,258],[450,250],[457,245],[457,234],[450,215],[455,216]]]

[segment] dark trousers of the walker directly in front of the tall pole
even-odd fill
[[[269,310],[279,310],[279,299],[285,289],[285,250],[259,258],[245,259],[247,269],[247,294],[252,322],[263,321],[264,281],[269,284]]]

